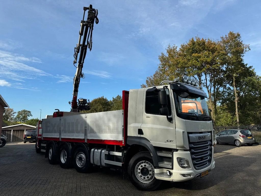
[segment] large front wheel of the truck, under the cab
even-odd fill
[[[161,185],[161,180],[155,178],[153,160],[149,152],[139,152],[131,158],[128,175],[133,185],[143,191],[154,191]]]

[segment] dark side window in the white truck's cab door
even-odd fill
[[[145,112],[147,114],[157,114],[159,115],[159,108],[161,105],[159,104],[159,91],[163,89],[157,89],[154,91],[146,91],[146,99],[145,99]],[[168,109],[169,109],[169,116],[171,116],[171,105],[170,105],[170,96],[169,90],[165,89],[168,97]]]

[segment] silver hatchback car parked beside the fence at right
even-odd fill
[[[246,129],[229,129],[216,134],[215,144],[218,143],[233,143],[236,146],[247,144],[252,146],[255,140],[252,133]]]

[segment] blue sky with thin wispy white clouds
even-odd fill
[[[240,32],[245,62],[261,75],[260,1],[3,1],[0,0],[0,94],[33,118],[69,111],[74,47],[83,6],[98,9],[78,97],[108,99],[140,88],[168,44]]]

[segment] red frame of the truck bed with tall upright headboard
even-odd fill
[[[127,142],[127,131],[128,131],[128,104],[129,104],[129,91],[123,90],[122,91],[122,109],[123,109],[123,141],[118,140],[88,140],[87,143],[95,143],[95,144],[106,144],[106,145],[119,145],[119,146],[125,146]],[[54,112],[53,118],[59,117],[60,115],[63,115],[63,112]],[[39,124],[41,124],[41,121],[39,121]],[[39,135],[39,129],[42,129],[42,127],[38,126],[38,137]],[[38,140],[42,140],[41,137],[38,138]],[[57,138],[57,137],[43,137],[43,140],[48,141],[64,141],[64,142],[81,142],[85,143],[85,139],[70,139],[70,138]]]

